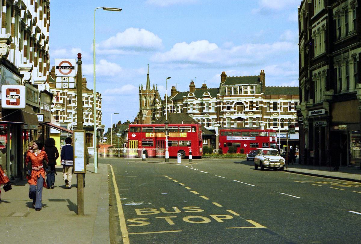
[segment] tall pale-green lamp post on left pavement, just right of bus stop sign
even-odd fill
[[[98,7],[94,9],[94,35],[93,35],[93,82],[94,82],[94,90],[93,90],[93,117],[94,117],[94,173],[98,173],[98,148],[97,148],[97,132],[96,132],[96,97],[95,97],[95,10],[102,8],[106,11],[122,11],[121,8],[106,8],[106,7]]]

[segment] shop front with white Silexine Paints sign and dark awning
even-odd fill
[[[37,139],[38,136],[39,123],[33,109],[33,105],[35,110],[38,107],[36,102],[38,98],[34,98],[34,104],[28,103],[27,88],[22,86],[22,78],[16,67],[4,59],[0,62],[1,165],[11,179],[22,178],[25,165],[24,153],[30,141]]]

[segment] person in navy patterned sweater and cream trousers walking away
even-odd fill
[[[63,166],[63,179],[65,182],[65,188],[71,188],[71,177],[73,176],[74,166],[74,152],[73,146],[71,145],[71,138],[65,138],[65,144],[61,148],[60,159],[61,165]]]

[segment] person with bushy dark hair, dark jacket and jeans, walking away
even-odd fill
[[[54,183],[55,183],[55,165],[56,165],[56,160],[59,157],[59,152],[58,149],[55,147],[55,140],[54,138],[47,138],[45,139],[45,152],[48,155],[48,168],[50,170],[50,173],[47,174],[47,178],[46,178],[46,183],[47,183],[47,188],[54,188]]]

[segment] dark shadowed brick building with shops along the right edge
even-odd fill
[[[360,8],[357,0],[301,1],[298,116],[303,164],[360,166]],[[340,157],[332,158],[334,151]]]

